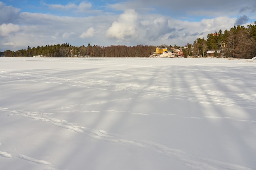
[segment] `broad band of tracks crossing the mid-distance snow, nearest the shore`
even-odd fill
[[[251,93],[239,93],[234,94],[231,92],[225,92],[218,90],[205,90],[202,89],[203,86],[216,85],[220,86],[222,84],[198,84],[196,86],[191,86],[190,88],[170,88],[169,86],[147,86],[143,84],[127,84],[127,83],[115,83],[102,79],[78,79],[78,78],[61,78],[61,77],[51,77],[49,75],[33,75],[31,73],[16,73],[2,71],[2,74],[8,74],[10,76],[22,76],[29,78],[36,78],[38,82],[45,83],[57,83],[57,84],[67,84],[71,86],[81,86],[86,88],[97,88],[99,90],[108,91],[126,91],[130,93],[137,94],[147,94],[153,95],[155,97],[173,97],[175,93],[176,99],[186,99],[190,102],[200,102],[212,105],[222,105],[222,106],[232,106],[238,108],[249,108],[256,109],[253,101],[256,100],[256,94]],[[239,77],[238,77],[239,78]],[[236,79],[238,79],[236,78]],[[31,81],[30,79],[23,79],[22,81]],[[98,86],[99,85],[99,86]],[[108,87],[115,87],[115,90]],[[141,91],[141,89],[144,89]],[[162,93],[165,95],[162,95]],[[184,93],[186,92],[186,93]],[[159,95],[161,94],[161,95]],[[208,102],[205,102],[208,101]]]

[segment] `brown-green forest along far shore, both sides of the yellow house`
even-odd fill
[[[72,46],[68,43],[30,47],[18,51],[6,50],[6,57],[149,57],[157,46],[112,45],[112,46]],[[198,38],[193,44],[180,47],[161,45],[169,50],[181,48],[184,56],[207,56],[207,51],[221,51],[215,57],[252,58],[256,56],[256,22],[253,25],[234,26],[229,30],[209,33],[207,39]]]

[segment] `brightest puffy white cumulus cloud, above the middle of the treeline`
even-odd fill
[[[125,38],[137,36],[137,18],[138,14],[135,10],[128,9],[124,11],[107,30],[107,37],[124,40]]]

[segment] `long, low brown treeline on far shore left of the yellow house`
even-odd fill
[[[38,46],[18,51],[4,51],[6,57],[148,57],[155,51],[156,46],[72,46],[70,44],[56,44]]]

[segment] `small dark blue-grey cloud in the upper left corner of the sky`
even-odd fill
[[[13,23],[19,18],[20,9],[11,6],[5,6],[0,2],[0,24]]]

